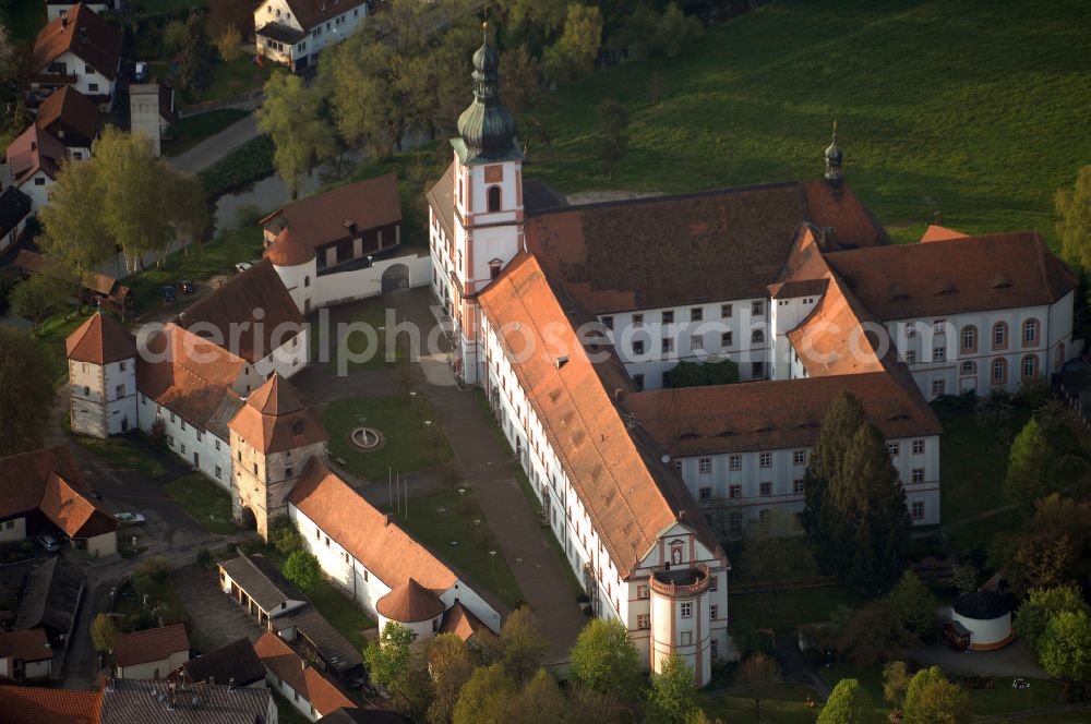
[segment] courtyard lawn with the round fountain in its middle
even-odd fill
[[[451,445],[439,423],[425,431],[423,423],[429,419],[434,420],[434,414],[423,395],[417,395],[416,402],[403,395],[337,400],[322,409],[331,455],[376,485],[385,484],[392,470],[404,475],[451,459]],[[379,430],[384,445],[365,452],[349,443],[349,433],[361,425]]]

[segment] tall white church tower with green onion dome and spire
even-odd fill
[[[523,153],[515,119],[500,100],[500,56],[484,27],[484,41],[473,53],[473,102],[458,118],[458,137],[451,141],[452,316],[460,348],[456,366],[467,383],[477,381],[482,359],[477,294],[523,249]]]

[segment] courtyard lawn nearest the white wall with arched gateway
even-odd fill
[[[332,328],[329,339],[327,340],[327,350],[320,349],[321,340],[319,339],[319,335],[311,335],[311,360],[321,361],[325,359],[329,371],[338,374],[341,374],[343,371],[345,373],[352,373],[360,370],[391,367],[397,362],[407,360],[409,350],[403,341],[404,337],[401,340],[398,340],[401,343],[393,345],[394,352],[392,360],[387,361],[386,359],[387,349],[391,347],[391,345],[387,345],[387,330],[394,334],[394,329],[398,323],[397,318],[394,318],[394,324],[391,324],[391,319],[386,316],[387,311],[386,305],[380,300],[362,302],[349,318],[344,321],[347,324],[353,325],[351,334],[346,334],[345,338],[339,340],[335,338],[337,329]],[[357,327],[359,327],[358,330],[356,329]],[[322,353],[323,351],[325,354]],[[349,354],[353,359],[349,359]]]

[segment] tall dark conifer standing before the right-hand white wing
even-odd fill
[[[865,422],[853,435],[828,497],[837,521],[830,531],[835,575],[855,586],[889,586],[909,559],[912,523],[886,439],[873,423]]]

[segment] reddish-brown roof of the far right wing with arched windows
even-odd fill
[[[860,249],[826,260],[883,321],[1051,304],[1076,287],[1034,231]]]

